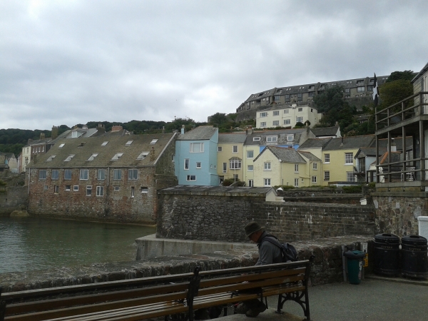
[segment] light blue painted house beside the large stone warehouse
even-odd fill
[[[218,128],[199,126],[181,130],[175,141],[175,175],[179,185],[219,184],[217,174]]]

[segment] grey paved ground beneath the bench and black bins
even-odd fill
[[[385,281],[386,280],[386,281]],[[398,282],[397,282],[398,281]],[[425,286],[424,286],[425,285]],[[315,321],[409,321],[428,320],[428,282],[406,282],[396,278],[366,278],[360,285],[335,283],[310,287],[310,315]],[[269,309],[255,320],[297,321],[304,318],[302,308],[286,302],[287,315],[274,313],[275,298]],[[251,320],[245,315],[230,315],[219,321]]]

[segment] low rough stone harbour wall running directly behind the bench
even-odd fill
[[[310,284],[322,285],[343,280],[341,245],[361,249],[362,243],[368,243],[369,259],[373,258],[373,238],[361,235],[307,240],[293,243],[293,245],[298,251],[300,260],[309,259],[311,255],[315,255],[310,273]],[[253,248],[216,251],[215,253],[163,256],[131,262],[97,263],[52,270],[1,273],[0,287],[3,287],[3,292],[35,290],[187,273],[193,272],[196,266],[202,267],[202,270],[251,266],[257,262],[257,259],[258,249],[254,245]],[[372,263],[369,261],[368,268],[371,265]],[[366,272],[370,272],[370,270],[366,270]]]

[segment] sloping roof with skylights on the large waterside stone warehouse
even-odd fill
[[[31,168],[91,168],[91,167],[142,167],[153,165],[163,153],[163,150],[171,138],[176,133],[147,134],[133,136],[96,136],[82,139],[63,138],[56,142],[46,154],[39,154],[36,163],[31,161],[28,167]],[[155,144],[151,144],[153,139],[158,139]],[[101,146],[108,141],[106,146]],[[126,146],[128,141],[133,141]],[[82,144],[83,143],[83,144]],[[58,148],[64,144],[63,147]],[[79,145],[83,145],[79,147]],[[153,148],[155,161],[151,161],[151,150]],[[147,152],[146,158],[139,160],[138,156],[142,152]],[[88,161],[93,153],[98,156],[93,161]],[[123,153],[123,156],[116,161],[111,161],[116,153]],[[47,161],[50,156],[55,155],[51,161]],[[69,155],[74,155],[71,161],[64,161]]]

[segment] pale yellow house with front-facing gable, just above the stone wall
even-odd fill
[[[254,186],[319,185],[322,163],[310,152],[267,146],[254,159]]]

